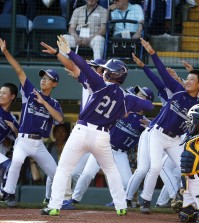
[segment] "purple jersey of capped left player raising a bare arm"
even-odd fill
[[[26,78],[24,87],[21,86],[20,89],[22,94],[22,111],[19,132],[38,134],[41,137],[48,138],[54,119],[49,111],[34,99],[36,96],[33,89],[35,89],[34,86]],[[38,92],[48,104],[62,113],[61,107],[55,99],[43,95],[40,91]]]

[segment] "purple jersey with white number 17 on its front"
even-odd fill
[[[110,131],[111,145],[124,151],[133,149],[145,129],[139,121],[143,118],[143,115],[130,113],[127,118],[117,121]]]

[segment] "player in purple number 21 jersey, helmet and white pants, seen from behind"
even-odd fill
[[[153,109],[153,104],[128,94],[119,87],[127,76],[128,70],[124,62],[117,59],[109,60],[104,65],[102,79],[82,57],[71,51],[63,36],[59,36],[58,39],[59,50],[66,53],[70,59],[45,43],[41,43],[46,48],[43,52],[58,53],[57,57],[61,63],[73,71],[74,78],[77,78],[80,83],[86,83],[92,90],[92,94],[81,111],[79,120],[61,154],[53,180],[50,203],[48,208],[41,210],[41,214],[59,215],[65,187],[74,166],[85,153],[91,152],[107,176],[117,214],[125,215],[127,214],[126,196],[111,152],[109,129],[126,113],[149,111]]]

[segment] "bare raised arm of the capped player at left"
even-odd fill
[[[26,80],[26,74],[22,69],[21,65],[14,59],[14,57],[7,50],[6,41],[2,40],[1,38],[0,38],[0,48],[4,56],[6,57],[7,61],[10,63],[10,65],[14,68],[15,72],[17,73],[21,85],[24,86]]]

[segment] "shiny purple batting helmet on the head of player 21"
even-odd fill
[[[113,80],[119,84],[123,84],[126,79],[128,68],[126,64],[117,59],[110,59],[106,64],[102,65],[108,71],[105,73],[105,77],[108,80]]]

